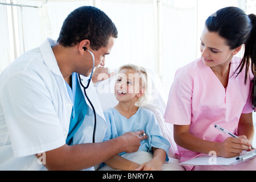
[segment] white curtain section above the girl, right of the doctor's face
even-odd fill
[[[118,68],[127,63],[156,71],[156,11],[154,1],[101,1],[100,9],[115,23],[118,38],[106,66]]]

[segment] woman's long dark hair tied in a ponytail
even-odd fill
[[[243,67],[246,67],[245,82],[249,67],[255,75],[256,65],[256,16],[246,15],[238,7],[225,7],[218,10],[205,21],[205,26],[211,32],[217,32],[222,38],[226,39],[226,44],[230,49],[235,49],[243,44],[245,53],[242,61],[236,70],[239,75]]]

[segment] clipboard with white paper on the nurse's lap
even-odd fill
[[[256,150],[243,152],[239,157],[222,158],[212,155],[203,155],[195,159],[180,163],[182,166],[233,166],[256,157]]]

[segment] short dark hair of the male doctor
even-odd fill
[[[64,20],[57,42],[72,47],[88,39],[90,47],[97,51],[108,45],[110,36],[117,38],[117,34],[117,28],[108,15],[96,7],[82,6]]]

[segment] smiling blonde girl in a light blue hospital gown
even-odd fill
[[[109,167],[120,170],[161,170],[165,161],[168,161],[170,143],[163,138],[162,132],[154,114],[141,106],[146,104],[147,72],[137,65],[123,65],[118,72],[115,82],[115,97],[118,105],[104,111],[108,130],[105,140],[118,137],[129,131],[144,130],[147,139],[141,142],[139,151],[154,154],[150,161],[139,164],[123,158],[122,154],[105,161]],[[135,154],[137,155],[137,154]],[[144,152],[137,159],[148,156]],[[105,168],[106,169],[106,168]],[[103,168],[104,170],[104,168]]]

